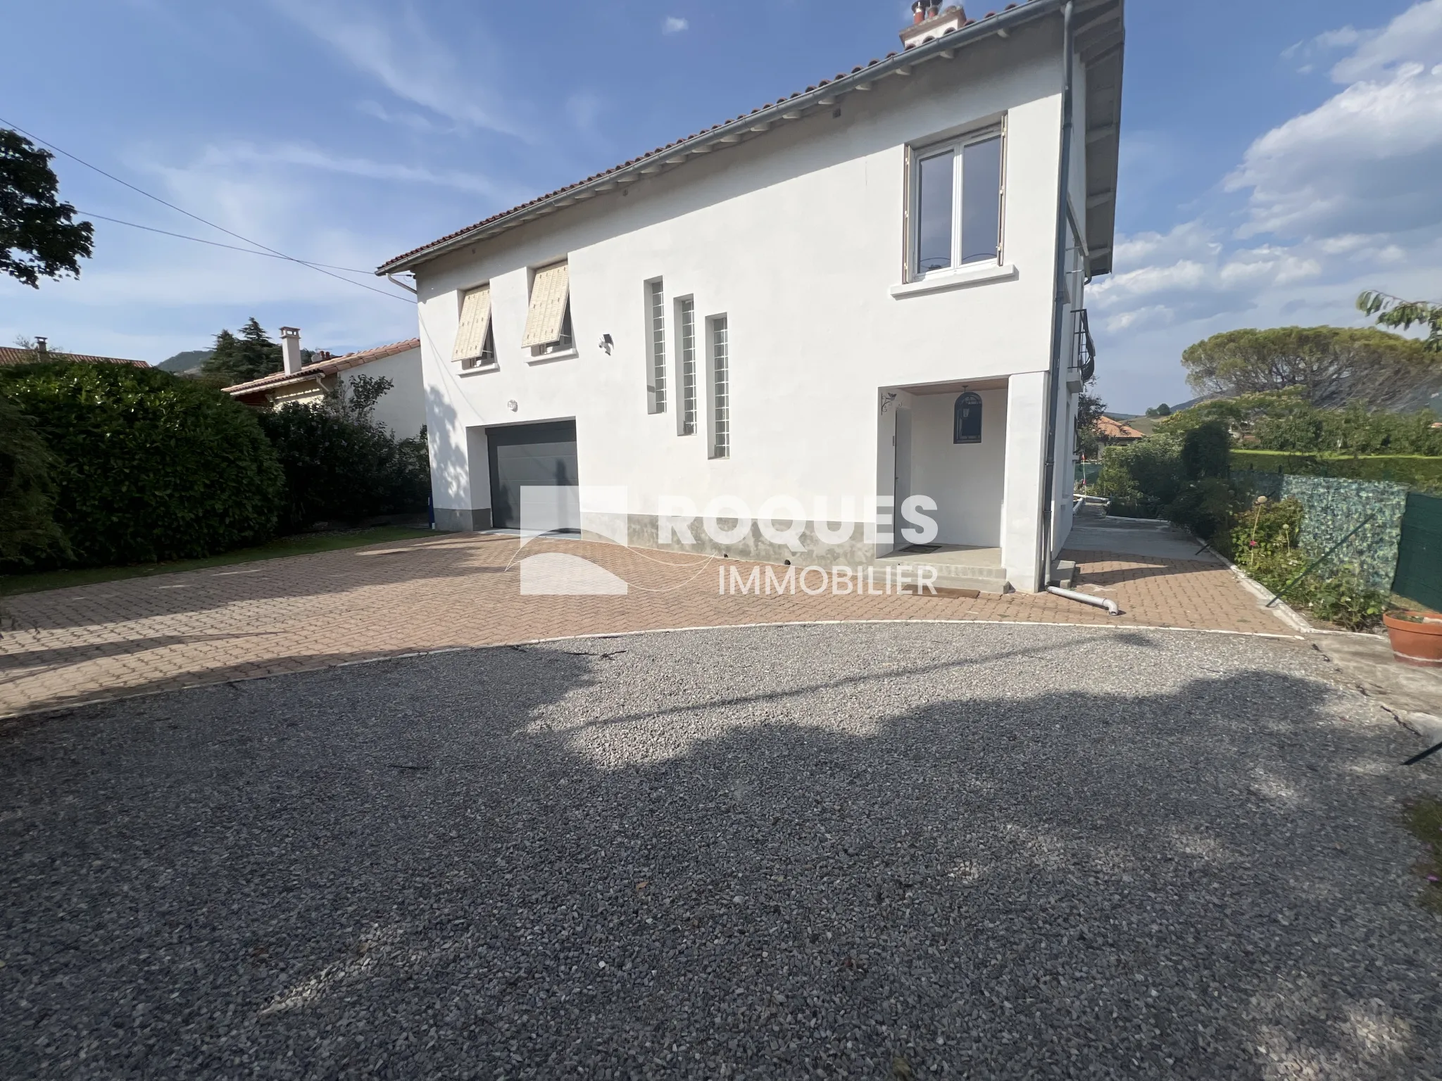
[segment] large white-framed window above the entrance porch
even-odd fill
[[[914,278],[1001,261],[1005,140],[1001,128],[913,151]]]

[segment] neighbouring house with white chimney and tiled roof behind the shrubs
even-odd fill
[[[339,383],[346,383],[358,375],[386,378],[394,386],[376,404],[372,419],[402,440],[420,435],[425,424],[420,339],[412,337],[408,342],[395,342],[345,356],[319,353],[319,359],[313,357],[309,365],[301,363],[298,330],[281,327],[280,342],[284,362],[280,372],[248,383],[226,386],[225,392],[258,409],[278,409],[291,402],[319,405]]]

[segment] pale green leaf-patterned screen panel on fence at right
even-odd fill
[[[1402,540],[1402,516],[1407,509],[1406,487],[1386,481],[1252,470],[1233,470],[1231,477],[1268,499],[1295,499],[1302,504],[1305,515],[1301,545],[1308,555],[1324,555],[1361,526],[1321,569],[1350,565],[1376,590],[1392,585]]]

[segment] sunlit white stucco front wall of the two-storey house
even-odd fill
[[[985,483],[979,476],[969,481],[976,513],[956,512],[952,528],[999,540],[1014,582],[1032,588],[1051,343],[1060,52],[1060,27],[1051,25],[966,49],[956,61],[936,61],[911,78],[884,79],[868,94],[845,97],[841,117],[820,111],[420,267],[437,507],[489,506],[486,425],[559,418],[575,418],[581,481],[626,486],[633,515],[655,515],[658,499],[668,494],[699,504],[737,494],[753,506],[776,494],[808,504],[816,496],[890,496],[894,417],[878,409],[881,391],[1009,379],[1007,391],[988,392],[988,424],[1005,424],[983,444],[978,470],[995,473]],[[1001,120],[1008,275],[894,295],[904,280],[907,147]],[[568,258],[571,268],[577,355],[535,362],[521,347],[528,271],[558,258]],[[643,283],[658,277],[666,291],[671,381],[666,411],[647,414]],[[499,368],[467,372],[450,359],[460,291],[485,283],[492,288]],[[685,295],[695,298],[698,334],[709,316],[730,320],[727,460],[707,454],[704,409],[696,435],[676,435],[672,314],[673,300]],[[616,343],[610,356],[597,344],[601,334]],[[994,399],[1004,408],[992,408]],[[949,417],[946,427],[949,432]],[[1070,473],[1070,442],[1058,442]],[[966,522],[996,526],[983,530]]]

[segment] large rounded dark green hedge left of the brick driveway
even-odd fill
[[[283,476],[226,395],[133,365],[0,369],[0,395],[53,453],[55,520],[79,566],[187,559],[261,543]]]

